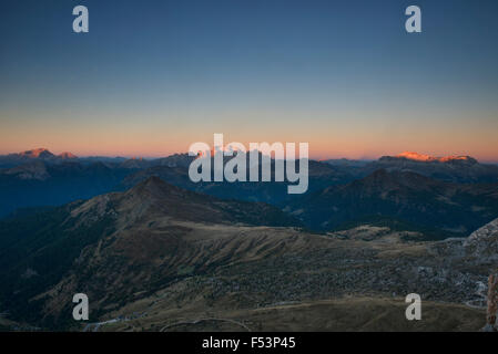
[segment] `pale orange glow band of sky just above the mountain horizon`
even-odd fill
[[[308,143],[309,158],[318,160],[377,159],[416,152],[429,156],[471,156],[479,162],[498,163],[498,119],[488,119],[480,125],[460,119],[448,131],[447,125],[430,121],[430,116],[405,122],[385,122],[384,117],[377,119],[375,116],[358,121],[346,116],[339,121],[331,117],[331,122],[317,119],[316,124],[306,124],[299,118],[282,124],[280,116],[271,119],[273,114],[258,121],[242,119],[246,115],[236,116],[236,124],[224,118],[204,118],[201,123],[189,118],[173,123],[165,118],[143,123],[138,119],[85,122],[81,118],[61,125],[49,118],[29,124],[2,118],[0,154],[47,147],[55,155],[69,152],[80,157],[159,158],[187,153],[195,142],[213,146],[213,134],[223,133],[225,146],[232,142],[246,147],[252,142]]]

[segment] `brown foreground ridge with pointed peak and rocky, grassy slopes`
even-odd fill
[[[403,174],[378,171],[357,183],[367,197],[377,192],[376,179],[387,194],[405,187],[431,192],[439,186],[419,188],[430,179],[415,174],[404,176],[408,181],[400,186],[397,175]],[[9,309],[18,323],[75,330],[71,300],[83,292],[92,299],[91,317],[120,331],[195,330],[202,319],[213,317],[234,323],[242,317],[245,326],[278,330],[288,309],[303,316],[289,317],[296,330],[333,323],[339,330],[475,330],[480,312],[463,303],[482,301],[479,283],[496,266],[486,251],[496,241],[488,232],[495,225],[443,242],[368,225],[316,235],[270,205],[223,200],[150,177],[126,191],[0,220],[0,310]],[[413,291],[433,309],[421,327],[407,326],[396,311],[387,311],[398,301],[387,294]],[[329,312],[324,299],[345,300],[328,302],[336,309]],[[363,319],[360,312],[377,301],[384,304]],[[434,312],[447,321],[433,317]],[[313,326],[311,319],[325,324]]]

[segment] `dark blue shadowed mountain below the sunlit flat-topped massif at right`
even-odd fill
[[[498,184],[461,185],[411,171],[379,169],[306,196],[289,210],[319,230],[397,221],[404,227],[438,229],[441,237],[446,232],[468,235],[498,216]]]

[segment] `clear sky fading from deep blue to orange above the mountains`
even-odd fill
[[[223,133],[321,159],[498,162],[497,15],[496,0],[1,1],[0,154],[156,157]]]

